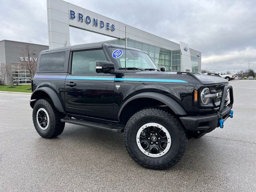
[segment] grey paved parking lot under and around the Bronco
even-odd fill
[[[66,124],[54,139],[32,123],[29,95],[0,93],[0,192],[256,191],[256,80],[230,81],[234,118],[164,171],[138,166],[123,135]]]

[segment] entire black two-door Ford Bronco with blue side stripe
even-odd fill
[[[159,70],[145,52],[83,44],[40,53],[30,106],[36,131],[60,135],[65,123],[124,132],[141,166],[165,169],[233,116],[233,90],[217,76]]]

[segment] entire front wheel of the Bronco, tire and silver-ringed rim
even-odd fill
[[[158,108],[138,111],[127,122],[124,143],[132,159],[150,169],[166,169],[184,155],[187,137],[180,122]]]

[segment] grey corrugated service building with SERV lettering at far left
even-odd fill
[[[38,55],[49,46],[0,40],[0,84],[10,84],[13,78],[16,84],[30,83],[29,68],[36,70]]]

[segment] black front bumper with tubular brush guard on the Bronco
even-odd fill
[[[220,107],[214,114],[200,116],[182,116],[180,120],[186,130],[210,132],[220,126],[220,119],[224,121],[230,117],[230,110],[234,102],[233,88],[231,85],[226,85],[223,92],[226,93],[229,89],[230,103],[225,105],[226,94],[223,94],[220,100]]]

